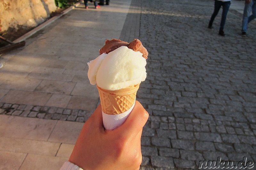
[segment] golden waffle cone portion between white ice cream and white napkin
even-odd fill
[[[108,115],[124,113],[132,107],[140,84],[120,90],[106,90],[97,85],[102,111]]]

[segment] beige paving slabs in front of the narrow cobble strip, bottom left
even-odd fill
[[[0,169],[60,169],[83,124],[0,115]]]

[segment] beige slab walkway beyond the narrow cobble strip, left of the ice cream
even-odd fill
[[[78,4],[28,37],[25,47],[2,55],[0,89],[8,92],[0,102],[94,110],[99,96],[88,81],[87,62],[106,39],[120,37],[130,4],[118,0],[97,10]]]

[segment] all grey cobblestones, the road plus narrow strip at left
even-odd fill
[[[199,161],[218,157],[233,166],[246,157],[256,168],[256,21],[242,37],[242,14],[230,9],[221,37],[221,11],[207,28],[212,1],[139,2],[139,38],[149,58],[137,99],[150,114],[140,169],[198,169]],[[0,114],[77,122],[92,113],[8,103],[0,108]]]

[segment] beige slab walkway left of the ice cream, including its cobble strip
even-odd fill
[[[119,39],[130,4],[80,4],[26,39],[26,47],[1,56],[1,170],[58,170],[68,160],[99,103],[87,62],[106,39]]]

